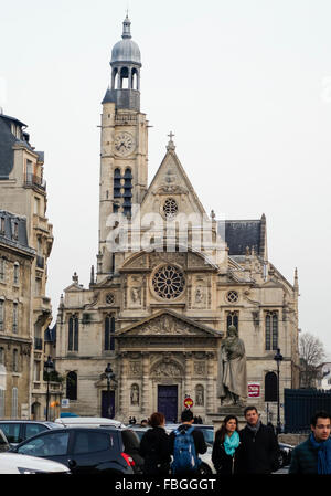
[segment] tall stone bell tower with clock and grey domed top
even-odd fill
[[[106,245],[108,217],[124,213],[130,219],[132,205],[140,204],[147,191],[148,120],[140,112],[141,57],[128,15],[121,40],[113,48],[110,67],[100,125],[98,281],[114,272]]]

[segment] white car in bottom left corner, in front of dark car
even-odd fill
[[[70,474],[62,463],[17,453],[0,453],[0,474]]]

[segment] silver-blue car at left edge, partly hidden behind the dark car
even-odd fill
[[[58,429],[60,426],[55,422],[44,422],[42,420],[0,420],[0,429],[11,447],[40,432]]]

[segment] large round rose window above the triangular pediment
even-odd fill
[[[173,265],[166,265],[156,272],[152,285],[161,298],[177,298],[183,293],[185,287],[184,274]]]

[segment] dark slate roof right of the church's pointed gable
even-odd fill
[[[228,246],[228,255],[245,255],[247,246],[254,249],[257,255],[266,256],[266,221],[259,220],[225,220],[217,221],[218,234]]]

